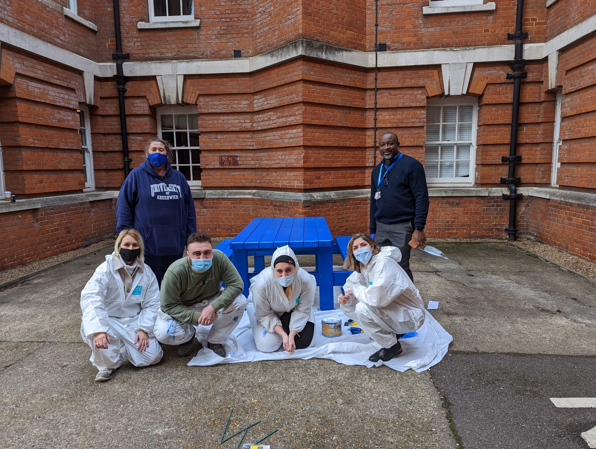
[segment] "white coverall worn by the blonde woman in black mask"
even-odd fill
[[[163,351],[153,335],[156,313],[159,309],[159,287],[149,268],[136,259],[132,284],[125,292],[119,270],[126,270],[116,253],[105,256],[105,262],[95,270],[80,293],[83,312],[80,335],[91,346],[89,359],[98,370],[116,369],[128,360],[134,366],[148,366],[162,360]],[[149,335],[149,347],[139,351],[134,343],[136,333],[144,330]],[[107,349],[93,343],[95,333],[105,332],[110,337]]]

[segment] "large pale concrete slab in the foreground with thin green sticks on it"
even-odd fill
[[[187,367],[125,365],[104,383],[84,343],[48,343],[0,372],[0,440],[10,447],[235,448],[219,438],[257,420],[284,448],[455,447],[429,373],[330,360]]]

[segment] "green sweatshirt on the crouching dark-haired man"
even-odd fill
[[[225,283],[224,292],[211,303],[216,312],[244,290],[244,283],[232,262],[220,250],[214,249],[212,267],[204,273],[197,273],[187,257],[178,259],[163,276],[160,292],[162,311],[182,323],[197,326],[201,312],[185,306],[213,298],[219,293],[222,282]]]

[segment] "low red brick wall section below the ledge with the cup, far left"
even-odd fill
[[[113,236],[115,205],[100,200],[0,213],[8,236],[0,241],[0,271]]]

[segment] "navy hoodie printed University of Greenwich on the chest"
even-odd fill
[[[116,204],[118,232],[134,228],[145,243],[145,253],[174,256],[184,250],[188,236],[197,232],[197,217],[184,175],[167,163],[160,176],[145,160],[120,187]]]

